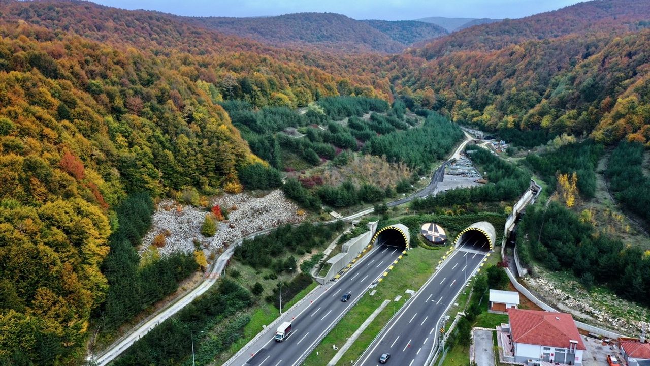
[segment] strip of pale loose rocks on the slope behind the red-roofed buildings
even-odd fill
[[[537,290],[539,293],[543,294],[547,300],[550,300],[552,303],[556,303],[558,305],[557,307],[560,308],[560,310],[574,313],[574,315],[576,315],[578,318],[585,318],[586,315],[586,317],[590,318],[590,320],[594,320],[605,328],[617,330],[630,336],[638,336],[644,325],[645,329],[650,329],[650,321],[647,320],[650,319],[650,311],[638,305],[628,304],[624,300],[612,298],[612,301],[616,302],[616,304],[608,305],[628,307],[628,309],[625,311],[628,316],[621,318],[608,313],[608,311],[597,309],[596,306],[598,305],[593,305],[593,299],[591,299],[591,296],[606,295],[590,294],[584,290],[578,290],[580,292],[580,299],[578,300],[564,290],[558,289],[553,283],[544,278],[528,277],[526,279],[526,283],[533,289]],[[575,285],[575,287],[577,287],[577,284]],[[638,309],[631,309],[632,307]]]

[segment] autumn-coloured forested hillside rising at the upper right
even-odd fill
[[[462,44],[458,35],[465,31],[454,33],[414,52],[434,58],[428,63],[400,56],[391,58],[387,67],[400,76],[396,93],[407,106],[431,107],[456,122],[486,130],[567,132],[604,143],[629,137],[645,143],[650,137],[650,55],[645,51],[650,30],[644,28],[650,23],[643,19],[649,11],[647,0],[580,3],[473,27],[468,39],[487,37],[476,48],[454,46]],[[560,25],[589,19],[591,31],[558,28],[556,18]],[[530,38],[496,37],[501,43],[490,45],[493,31],[526,35],[512,24],[541,27],[538,33],[547,39],[537,40],[531,33]],[[435,47],[441,48],[429,53]]]

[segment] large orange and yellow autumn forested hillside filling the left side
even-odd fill
[[[118,328],[196,270],[191,255],[140,262],[135,246],[151,197],[239,191],[261,163],[220,102],[387,95],[354,61],[151,12],[2,1],[0,13],[0,363],[74,364],[91,326]]]

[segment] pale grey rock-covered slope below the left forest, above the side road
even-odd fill
[[[224,244],[231,244],[253,232],[277,227],[285,223],[297,223],[302,216],[296,204],[289,201],[281,190],[275,190],[263,197],[252,197],[248,193],[222,195],[210,201],[211,206],[219,204],[229,211],[229,220],[218,223],[216,234],[211,238],[201,235],[201,225],[208,213],[207,209],[183,206],[171,200],[158,204],[153,214],[151,229],[142,240],[144,244],[140,253],[148,250],[157,234],[169,231],[164,247],[159,248],[161,255],[174,252],[194,251],[194,240],[201,243],[206,253],[218,251]],[[236,210],[231,210],[237,206]]]

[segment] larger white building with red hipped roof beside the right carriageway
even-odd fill
[[[545,361],[582,365],[586,350],[570,314],[508,309],[515,362]]]

